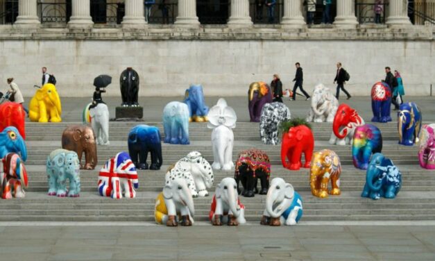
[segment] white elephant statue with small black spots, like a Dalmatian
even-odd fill
[[[191,151],[185,158],[178,160],[167,172],[164,180],[169,184],[174,178],[185,178],[194,198],[208,196],[207,188],[212,187],[214,183],[212,166],[198,151]]]

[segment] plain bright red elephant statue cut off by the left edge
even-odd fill
[[[24,119],[26,119],[26,112],[21,104],[10,101],[0,104],[0,132],[8,126],[14,126],[23,139],[26,139]]]

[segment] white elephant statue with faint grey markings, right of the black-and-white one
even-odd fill
[[[314,88],[311,108],[306,120],[308,122],[332,122],[337,108],[339,108],[339,100],[331,93],[330,88],[319,84]]]

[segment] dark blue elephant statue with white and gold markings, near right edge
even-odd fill
[[[421,123],[421,110],[417,104],[402,103],[398,111],[399,144],[412,146],[418,142]]]

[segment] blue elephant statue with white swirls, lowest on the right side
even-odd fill
[[[402,186],[402,174],[389,158],[375,153],[366,174],[366,185],[361,194],[364,198],[394,199]]]

